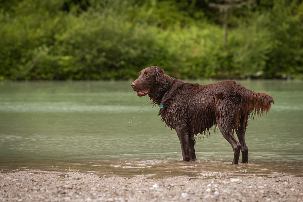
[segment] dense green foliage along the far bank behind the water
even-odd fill
[[[303,78],[302,1],[230,10],[226,49],[207,2],[0,1],[0,80]]]

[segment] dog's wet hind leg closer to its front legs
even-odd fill
[[[224,127],[222,127],[220,121],[217,121],[217,124],[223,137],[231,144],[231,147],[234,151],[234,159],[232,160],[232,164],[238,164],[241,150],[240,143],[237,141],[234,134],[232,133],[232,129],[225,129]]]

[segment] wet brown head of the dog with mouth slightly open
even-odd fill
[[[147,67],[140,72],[140,76],[132,84],[137,96],[145,96],[150,93],[158,93],[167,85],[167,75],[157,66]]]

